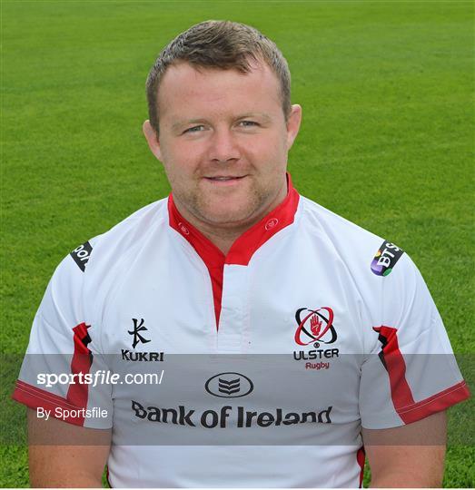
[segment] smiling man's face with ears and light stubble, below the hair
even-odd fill
[[[266,64],[245,74],[173,65],[158,103],[158,142],[148,122],[144,132],[185,218],[198,226],[246,227],[284,199],[301,109],[292,106],[285,122],[280,85]]]

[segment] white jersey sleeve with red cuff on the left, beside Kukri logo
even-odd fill
[[[13,398],[76,426],[112,426],[112,387],[98,327],[84,305],[84,277],[93,246],[73,250],[54,271],[36,312]],[[95,381],[95,382],[94,382]]]

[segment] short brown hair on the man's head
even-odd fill
[[[250,62],[269,65],[281,84],[285,119],[291,113],[291,73],[279,48],[250,25],[231,21],[205,21],[193,25],[168,44],[148,74],[146,89],[150,124],[159,132],[158,88],[166,69],[184,61],[197,68],[218,68],[249,73]]]

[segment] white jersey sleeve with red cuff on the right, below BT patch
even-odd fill
[[[372,326],[372,350],[361,366],[361,425],[378,429],[411,424],[470,397],[440,314],[411,259],[381,281],[381,323]]]

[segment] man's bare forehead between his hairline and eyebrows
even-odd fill
[[[249,73],[234,69],[194,68],[173,64],[158,90],[160,118],[193,117],[219,110],[282,112],[280,83],[267,64],[254,64]]]

